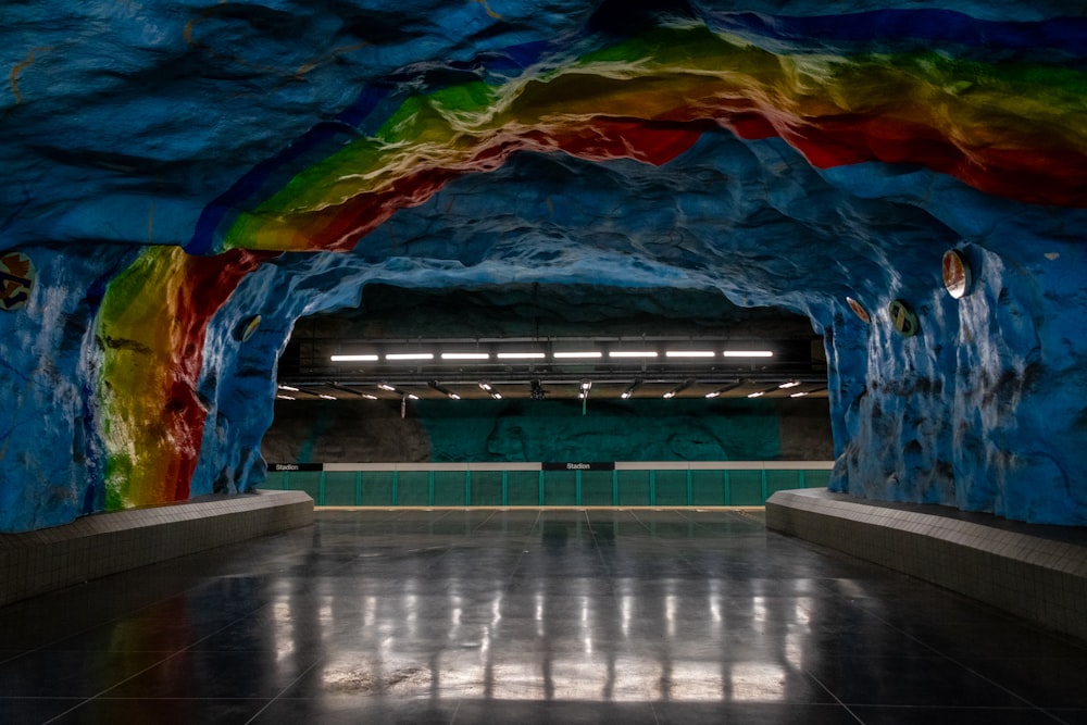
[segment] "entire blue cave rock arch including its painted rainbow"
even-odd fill
[[[0,530],[259,483],[295,322],[373,282],[805,314],[834,488],[1087,522],[1067,3],[5,13]]]

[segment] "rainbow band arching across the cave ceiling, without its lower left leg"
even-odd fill
[[[916,165],[1022,202],[1087,207],[1087,132],[1070,123],[1085,90],[1084,73],[1040,63],[790,55],[705,27],[658,29],[501,84],[408,96],[384,118],[388,98],[371,91],[350,115],[373,133],[316,129],[213,204],[189,249],[349,250],[397,209],[518,151],[660,165],[720,128],[782,138],[819,168]]]

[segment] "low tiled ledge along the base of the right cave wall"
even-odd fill
[[[1087,533],[826,489],[766,501],[766,528],[866,559],[1087,640]]]

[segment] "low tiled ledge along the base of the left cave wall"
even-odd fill
[[[313,523],[302,491],[203,497],[0,534],[0,605],[108,574]]]

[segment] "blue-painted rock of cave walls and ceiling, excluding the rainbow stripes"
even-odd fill
[[[636,5],[632,23],[665,23],[679,9],[792,53],[874,53],[896,42],[913,51],[932,42],[919,28],[933,16],[911,13],[940,10],[955,18],[940,26],[954,34],[941,40],[947,55],[1085,72],[1083,10],[1058,0]],[[295,140],[343,123],[373,89],[499,73],[492,59],[510,48],[569,42],[578,58],[615,32],[609,9],[577,0],[5,4],[0,251],[30,257],[37,278],[25,309],[0,312],[0,530],[105,505],[104,449],[120,443],[102,401],[123,380],[102,377],[103,350],[125,341],[96,334],[99,305],[141,250],[210,252],[191,245],[215,203]],[[879,15],[869,45],[833,30],[834,17],[884,10],[894,12]],[[611,24],[594,26],[601,18]],[[830,20],[820,32],[811,18]],[[1087,146],[1087,84],[1067,87],[1062,102],[1078,111],[1052,130]],[[900,102],[890,115],[927,101]],[[203,338],[193,392],[207,415],[187,490],[262,480],[277,359],[293,325],[358,305],[367,284],[685,287],[804,314],[825,336],[836,490],[1084,525],[1085,229],[1087,210],[1075,205],[989,195],[924,163],[813,164],[782,138],[721,126],[661,165],[517,153],[398,209],[353,250],[285,252],[241,280]],[[949,249],[973,268],[961,300],[941,282]],[[847,296],[867,308],[870,324]],[[895,332],[895,299],[916,312],[917,335]],[[239,325],[254,314],[261,324],[240,342]]]

